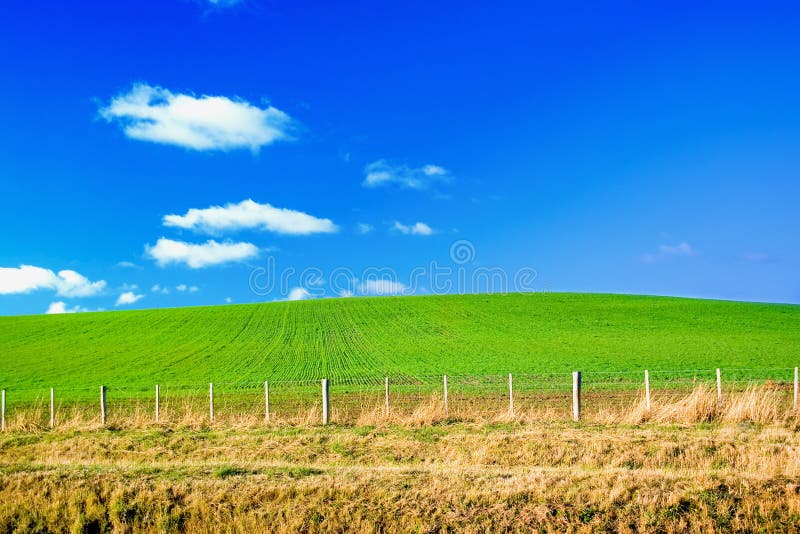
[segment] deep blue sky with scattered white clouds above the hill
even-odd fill
[[[800,302],[796,4],[89,4],[4,3],[0,314]]]

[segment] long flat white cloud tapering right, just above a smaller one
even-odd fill
[[[165,215],[164,226],[197,230],[211,235],[237,230],[263,230],[288,235],[326,234],[338,230],[330,219],[259,204],[250,199],[238,204],[192,208],[185,215]]]

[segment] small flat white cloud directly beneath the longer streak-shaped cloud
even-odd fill
[[[145,246],[145,252],[162,267],[183,263],[192,269],[201,269],[252,258],[258,254],[258,248],[252,243],[218,243],[212,239],[195,244],[162,237],[152,247]]]

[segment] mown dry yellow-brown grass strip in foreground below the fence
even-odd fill
[[[19,432],[0,531],[796,532],[798,450],[787,422]]]

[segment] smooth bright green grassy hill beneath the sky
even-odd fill
[[[789,367],[800,307],[452,295],[0,317],[0,386]]]

